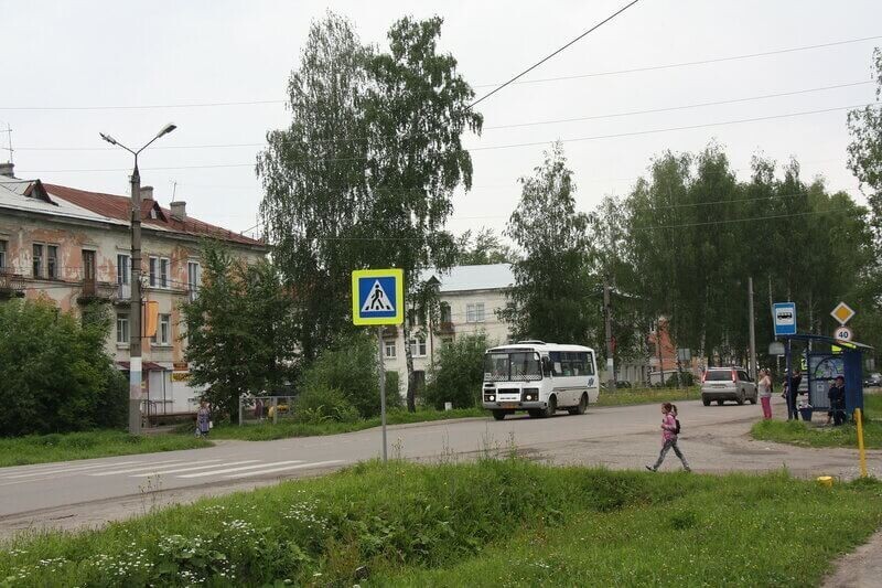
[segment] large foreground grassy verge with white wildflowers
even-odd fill
[[[873,481],[369,462],[20,536],[0,586],[813,586],[881,523]]]

